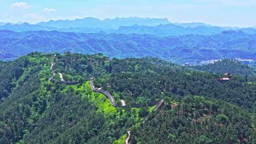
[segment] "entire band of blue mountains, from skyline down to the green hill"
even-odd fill
[[[1,60],[34,51],[103,53],[119,58],[154,56],[179,63],[222,58],[256,60],[256,29],[252,27],[131,17],[51,20],[35,25],[7,23],[0,30]]]

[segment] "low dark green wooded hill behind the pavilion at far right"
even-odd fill
[[[206,71],[206,72],[215,72],[215,73],[226,73],[231,74],[241,74],[241,75],[254,75],[256,71],[254,68],[248,66],[247,64],[240,63],[232,59],[224,59],[217,61],[215,63],[209,63],[204,65],[192,66],[192,68]]]

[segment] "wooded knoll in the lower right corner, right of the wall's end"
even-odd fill
[[[252,123],[250,114],[236,106],[186,96],[175,108],[167,102],[133,127],[131,144],[254,144]]]

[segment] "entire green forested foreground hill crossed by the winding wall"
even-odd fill
[[[156,58],[72,53],[32,53],[0,68],[0,144],[124,144],[128,131],[131,144],[256,143],[256,84],[238,75],[221,83]],[[94,92],[92,76],[126,107]],[[148,105],[159,99],[159,109]]]

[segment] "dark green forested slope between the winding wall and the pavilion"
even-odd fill
[[[198,95],[256,111],[256,85],[246,83],[244,76],[235,73],[231,81],[220,83],[216,79],[223,73],[193,71],[149,57],[113,59],[106,69],[109,76],[96,77],[95,85],[118,93],[128,104],[146,106],[152,100],[172,95]]]

